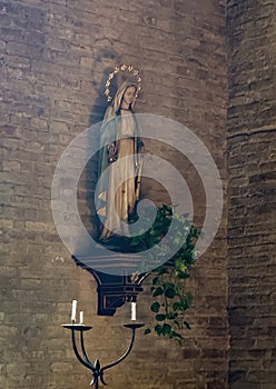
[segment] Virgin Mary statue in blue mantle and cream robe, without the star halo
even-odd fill
[[[140,196],[141,148],[134,114],[137,86],[125,81],[107,108],[100,130],[97,212],[102,220],[99,240],[128,237]]]

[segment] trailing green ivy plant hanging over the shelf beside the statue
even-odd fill
[[[174,207],[164,205],[158,208],[151,227],[130,241],[134,251],[149,251],[139,271],[150,269],[152,275],[150,310],[155,323],[145,330],[145,335],[156,332],[179,342],[184,339],[184,330],[190,329],[185,313],[191,306],[193,296],[186,290],[186,280],[196,261],[195,243],[200,236],[187,218],[188,215],[178,215]],[[171,252],[172,256],[162,263],[160,259]],[[155,262],[157,266],[151,270]]]

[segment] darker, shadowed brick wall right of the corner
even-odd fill
[[[228,2],[231,389],[273,389],[275,360],[275,3]]]

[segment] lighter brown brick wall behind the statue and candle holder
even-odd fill
[[[62,151],[102,118],[100,92],[110,67],[127,62],[139,68],[144,90],[137,111],[162,114],[194,130],[225,183],[224,11],[224,2],[213,0],[0,1],[1,388],[88,388],[89,373],[60,327],[70,319],[72,298],[93,325],[87,337],[91,359],[109,362],[128,342],[121,322],[129,318],[129,307],[114,318],[96,316],[96,285],[73,266],[50,208],[52,174]],[[177,166],[174,153],[166,152]],[[200,222],[204,194],[197,186],[194,196]],[[227,387],[225,237],[224,216],[193,275],[193,329],[184,347],[140,332],[129,358],[108,371],[110,388]],[[147,283],[145,289],[138,316],[149,322]]]

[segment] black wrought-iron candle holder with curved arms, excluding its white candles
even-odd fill
[[[116,365],[120,363],[130,353],[130,351],[132,350],[134,343],[135,343],[136,330],[137,330],[137,328],[144,327],[144,323],[124,325],[124,327],[129,328],[132,331],[130,343],[129,343],[127,350],[125,351],[125,353],[120,358],[118,358],[116,361],[114,361],[109,365],[106,365],[103,367],[100,366],[100,361],[98,359],[96,359],[96,361],[92,363],[89,360],[88,355],[86,352],[83,332],[89,331],[92,328],[91,326],[72,323],[72,325],[63,325],[62,327],[71,330],[71,341],[72,341],[72,349],[73,349],[75,356],[77,357],[77,359],[79,360],[79,362],[81,365],[83,365],[86,368],[91,370],[92,379],[91,379],[90,386],[95,385],[95,389],[98,389],[99,381],[102,385],[107,385],[105,382],[105,379],[103,379],[105,371],[108,369],[111,369]],[[81,352],[78,350],[78,346],[77,346],[77,341],[76,341],[76,332],[79,332],[79,342],[80,342]]]

